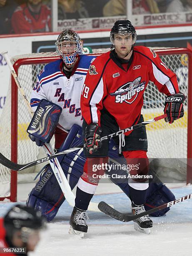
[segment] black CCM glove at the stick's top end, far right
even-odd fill
[[[167,114],[167,118],[165,122],[173,123],[184,116],[183,102],[185,99],[185,95],[181,92],[166,97],[164,113]]]

